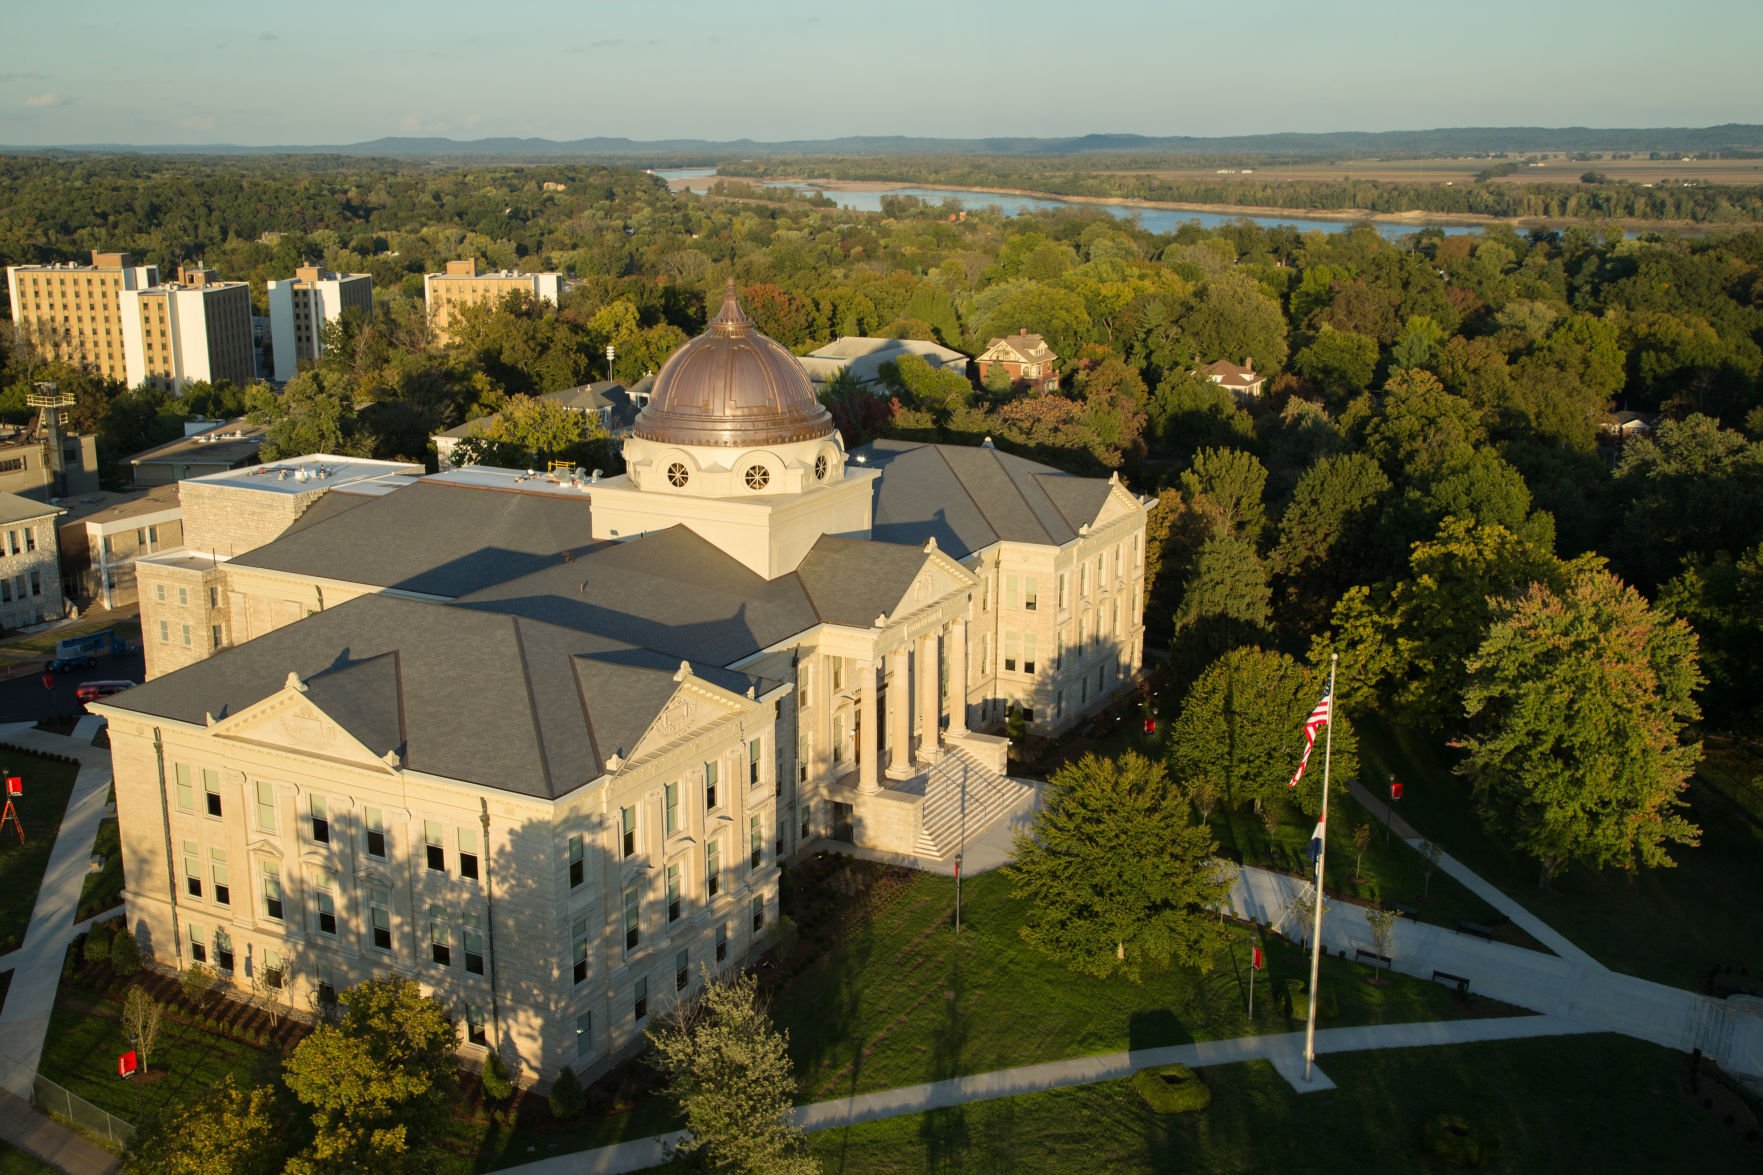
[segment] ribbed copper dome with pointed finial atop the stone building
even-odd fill
[[[665,445],[751,448],[829,436],[832,415],[795,356],[755,330],[730,279],[709,330],[661,365],[633,432]]]

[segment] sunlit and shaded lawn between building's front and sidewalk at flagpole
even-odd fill
[[[1001,873],[964,882],[957,937],[950,928],[952,879],[829,857],[807,864],[795,886],[806,894],[816,868],[829,864],[873,886],[823,914],[830,921],[844,910],[848,919],[843,940],[827,949],[815,940],[815,917],[802,916],[804,954],[815,962],[774,997],[772,1014],[790,1032],[802,1101],[1287,1027],[1269,999],[1257,999],[1255,1023],[1246,1016],[1245,928],[1231,930],[1231,946],[1208,974],[1172,970],[1141,984],[1097,981],[1021,940],[1026,905],[1010,900]],[[834,872],[820,884],[836,880]],[[867,914],[850,914],[864,907]],[[811,898],[807,909],[815,909]],[[1266,946],[1269,970],[1257,981],[1262,993],[1306,974],[1296,947],[1278,939]],[[1387,986],[1372,986],[1368,979],[1361,967],[1326,962],[1324,986],[1340,1000],[1342,1023],[1463,1014],[1437,984],[1396,976]]]

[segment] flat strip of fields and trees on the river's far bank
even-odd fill
[[[1074,168],[1070,159],[1017,157],[769,157],[721,164],[721,175],[749,178],[889,180],[941,187],[1000,187],[1049,196],[1153,199],[1246,208],[1433,212],[1562,221],[1689,221],[1744,224],[1763,221],[1763,187],[1640,183],[1402,183],[1396,180],[1250,180],[1174,178],[1102,168]],[[1165,159],[1164,166],[1192,166]]]

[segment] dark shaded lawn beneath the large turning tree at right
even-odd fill
[[[1449,773],[1442,746],[1366,720],[1361,755],[1407,782],[1398,815],[1462,859],[1597,962],[1696,990],[1715,965],[1763,969],[1763,755],[1710,743],[1689,785],[1701,845],[1677,849],[1677,868],[1620,873],[1569,870],[1537,889],[1537,866],[1483,831],[1469,787]],[[1373,778],[1377,778],[1373,775]],[[1437,886],[1437,877],[1433,879]]]

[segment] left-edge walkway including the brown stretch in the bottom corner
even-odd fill
[[[74,792],[67,799],[62,829],[42,872],[37,905],[25,930],[25,942],[12,953],[12,986],[0,1009],[0,1138],[63,1171],[99,1175],[116,1170],[116,1156],[28,1108],[30,1087],[42,1059],[42,1039],[62,983],[62,958],[79,933],[79,891],[86,882],[92,843],[104,819],[109,790],[109,752],[90,739],[37,730],[32,723],[0,725],[0,743],[79,760]]]

